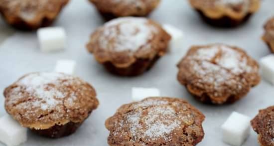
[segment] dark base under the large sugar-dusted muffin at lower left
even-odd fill
[[[69,122],[65,125],[55,125],[49,129],[45,129],[45,130],[35,130],[35,129],[30,129],[30,130],[39,136],[57,139],[57,138],[66,137],[66,136],[69,136],[69,135],[75,133],[76,130],[81,125],[82,125],[82,123]]]

